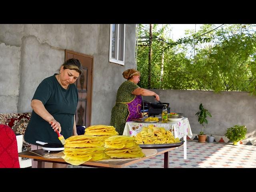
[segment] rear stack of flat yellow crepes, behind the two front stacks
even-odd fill
[[[113,126],[107,125],[92,125],[85,129],[85,135],[93,136],[106,136],[106,135],[118,135],[116,129]]]

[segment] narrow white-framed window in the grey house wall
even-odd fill
[[[109,62],[124,65],[125,24],[110,24]]]

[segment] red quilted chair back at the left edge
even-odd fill
[[[0,168],[20,168],[18,146],[14,131],[0,124]]]

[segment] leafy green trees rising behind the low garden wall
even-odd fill
[[[176,42],[167,37],[167,25],[160,30],[157,26],[153,27],[152,88],[249,91],[256,95],[256,33],[252,25],[225,24],[213,30],[216,26],[204,24],[196,33],[187,30],[187,36]],[[148,36],[145,25],[140,24],[139,36]],[[147,65],[147,42],[139,42],[137,69],[142,73],[139,86],[143,88],[148,88]]]

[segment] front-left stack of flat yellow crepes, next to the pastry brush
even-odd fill
[[[97,136],[78,135],[66,139],[62,158],[72,165],[80,165],[89,160],[109,158],[104,152],[104,142]]]

